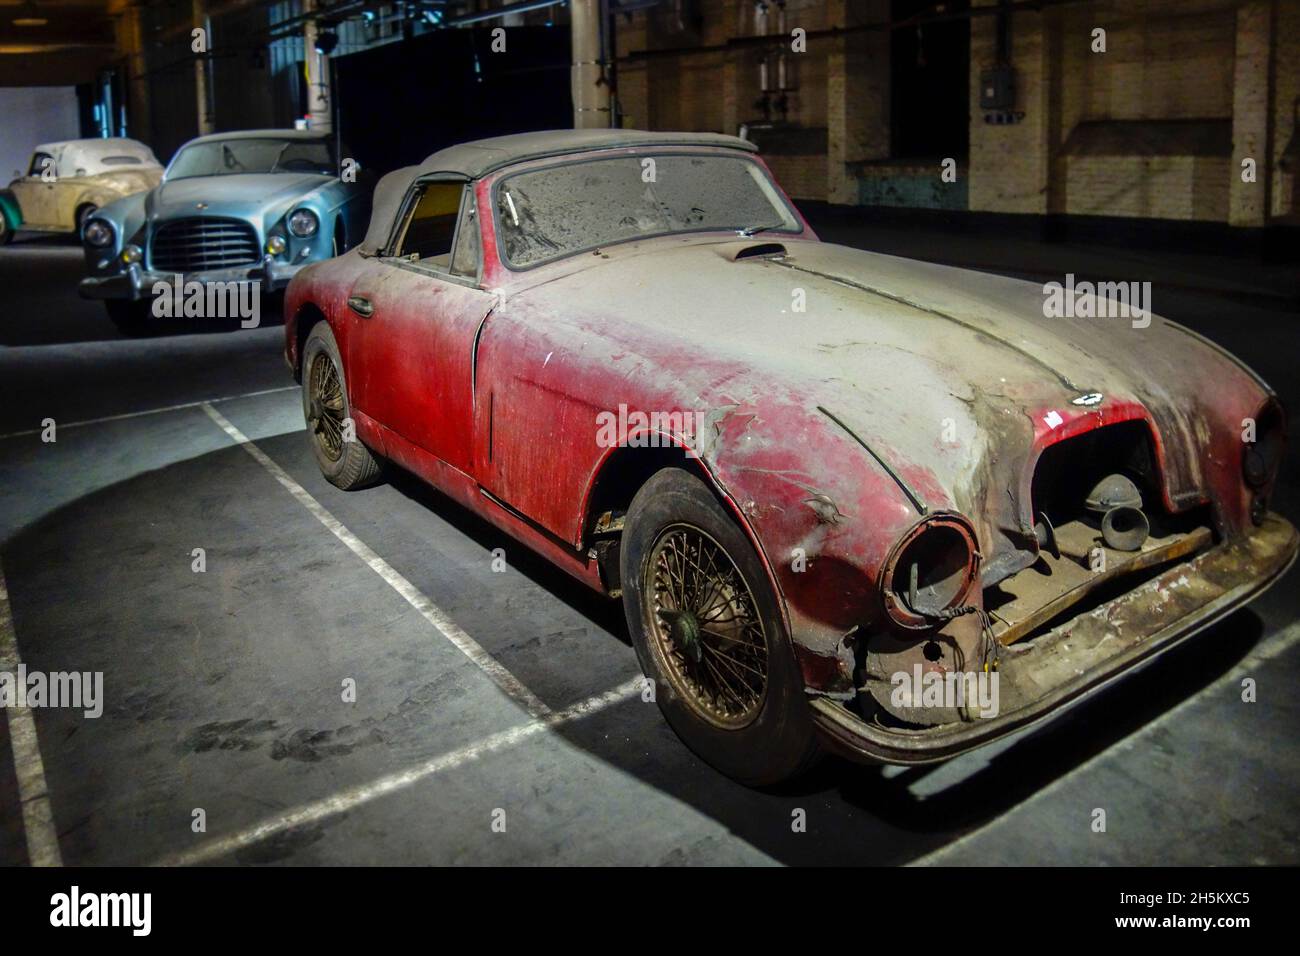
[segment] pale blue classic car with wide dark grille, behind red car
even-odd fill
[[[283,289],[302,267],[344,252],[369,219],[369,190],[344,182],[335,140],[308,130],[191,139],[162,182],[109,203],[82,226],[81,294],[118,326],[147,320],[155,285],[257,281]],[[354,178],[354,177],[348,177]]]

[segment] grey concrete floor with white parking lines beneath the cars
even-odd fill
[[[1034,277],[1153,278],[1158,312],[1300,407],[1290,271],[823,234]],[[0,567],[17,650],[31,669],[105,675],[99,719],[30,711],[66,864],[1300,862],[1296,572],[1069,721],[937,769],[828,761],[759,793],[629,693],[616,605],[411,479],[326,484],[278,326],[121,339],[77,298],[79,273],[73,246],[0,250]],[[31,431],[46,418],[56,444]],[[1277,499],[1294,519],[1297,459]],[[550,717],[529,717],[404,587]],[[1258,702],[1240,701],[1243,676]],[[0,711],[0,862],[22,864],[12,730]]]

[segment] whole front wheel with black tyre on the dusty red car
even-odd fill
[[[666,468],[637,492],[620,571],[642,672],[686,747],[750,786],[811,766],[816,734],[776,597],[703,481]]]

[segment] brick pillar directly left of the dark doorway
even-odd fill
[[[829,0],[827,26],[889,20],[889,0]],[[826,69],[827,200],[858,202],[848,163],[889,157],[889,31],[832,40]]]

